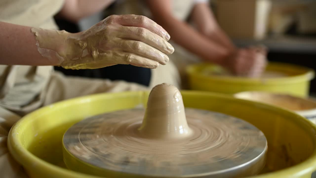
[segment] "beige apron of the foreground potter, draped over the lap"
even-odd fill
[[[53,16],[63,0],[1,0],[0,21],[57,29]],[[35,44],[34,44],[35,45]],[[145,90],[123,81],[65,77],[52,66],[0,65],[0,177],[26,177],[7,149],[7,135],[21,116],[63,99],[100,92]]]

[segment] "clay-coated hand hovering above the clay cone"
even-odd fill
[[[67,58],[61,66],[71,69],[131,64],[156,68],[169,61],[174,49],[169,34],[145,16],[113,15],[66,40]]]

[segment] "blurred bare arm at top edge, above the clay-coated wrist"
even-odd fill
[[[91,16],[109,6],[114,0],[65,0],[59,16],[71,22],[78,22],[84,17]]]

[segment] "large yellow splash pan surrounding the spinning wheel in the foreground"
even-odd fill
[[[210,92],[182,91],[185,107],[222,112],[262,130],[268,141],[267,163],[253,178],[310,178],[316,170],[316,126],[278,107]],[[146,105],[149,92],[95,94],[65,100],[34,111],[9,132],[8,147],[32,178],[96,178],[65,167],[64,132],[76,122],[104,112]],[[107,175],[111,177],[111,175]]]

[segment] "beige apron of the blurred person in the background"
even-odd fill
[[[179,20],[185,21],[190,15],[194,3],[198,2],[207,2],[207,0],[172,0],[172,13]],[[112,13],[135,14],[152,18],[144,0],[119,0]],[[174,53],[169,55],[170,61],[167,65],[160,65],[156,69],[151,69],[150,87],[166,82],[178,88],[187,88],[185,67],[201,61],[195,54],[182,48],[172,40],[170,40],[170,43],[175,49]]]

